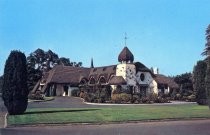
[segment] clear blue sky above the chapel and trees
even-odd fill
[[[51,49],[90,66],[117,64],[127,46],[160,73],[191,72],[205,45],[209,0],[0,0],[0,75],[11,50]]]

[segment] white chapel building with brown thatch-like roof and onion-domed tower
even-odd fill
[[[57,65],[44,73],[32,92],[41,91],[46,96],[71,96],[72,90],[100,86],[110,87],[111,94],[121,89],[145,97],[178,89],[172,78],[155,74],[141,62],[134,62],[134,55],[126,46],[120,52],[118,62],[116,65],[94,67],[91,60],[90,68]]]

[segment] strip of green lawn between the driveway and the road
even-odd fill
[[[208,106],[121,106],[109,108],[28,109],[9,116],[9,125],[53,123],[108,123],[159,119],[210,118]]]

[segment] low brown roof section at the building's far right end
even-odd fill
[[[178,89],[179,85],[173,80],[171,77],[166,77],[161,74],[156,74],[155,75],[155,80],[158,84],[167,84],[170,88],[175,88]]]

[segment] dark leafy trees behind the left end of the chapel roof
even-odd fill
[[[27,57],[28,87],[31,91],[44,72],[49,71],[56,65],[82,66],[82,62],[70,62],[69,58],[61,57],[51,50],[37,49]]]

